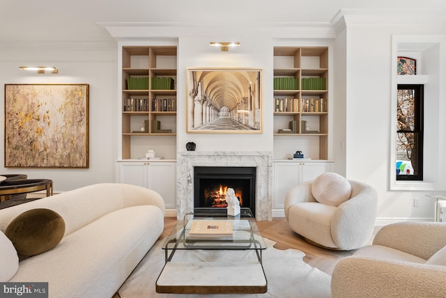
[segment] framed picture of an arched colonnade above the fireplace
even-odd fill
[[[262,70],[187,68],[188,133],[262,133]]]

